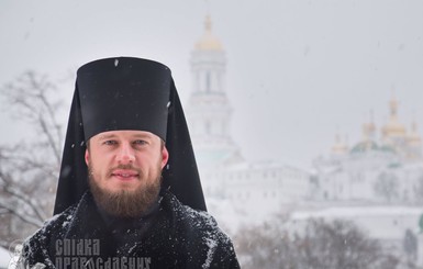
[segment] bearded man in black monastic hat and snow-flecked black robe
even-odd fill
[[[170,70],[119,57],[78,69],[55,216],[23,245],[36,268],[240,268],[205,213]]]

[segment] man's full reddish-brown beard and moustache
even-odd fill
[[[118,166],[116,168],[133,169],[131,165]],[[110,191],[98,184],[92,165],[88,164],[88,181],[96,204],[108,214],[116,217],[140,217],[152,208],[153,203],[158,200],[160,191],[160,165],[158,165],[153,176],[155,178],[146,179],[143,177],[142,171],[140,171],[137,180],[145,180],[146,184],[142,184],[135,190]]]

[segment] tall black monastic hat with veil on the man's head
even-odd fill
[[[168,165],[162,190],[205,211],[191,139],[170,69],[157,61],[116,57],[77,71],[54,214],[77,203],[89,189],[86,142],[113,130],[148,131],[166,142]]]

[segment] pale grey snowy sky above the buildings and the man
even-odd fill
[[[2,0],[0,85],[27,69],[66,78],[66,122],[80,65],[136,56],[168,65],[187,103],[190,53],[210,13],[226,52],[232,134],[246,159],[308,168],[336,132],[357,142],[369,110],[380,127],[392,94],[408,130],[414,114],[423,131],[423,1],[265,2]],[[0,111],[0,141],[23,136],[25,126]]]

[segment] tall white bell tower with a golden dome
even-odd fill
[[[241,160],[230,134],[232,108],[225,89],[225,53],[212,34],[208,15],[204,33],[190,58],[192,92],[187,107],[190,134],[200,166],[220,166]]]

